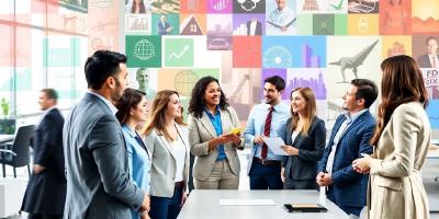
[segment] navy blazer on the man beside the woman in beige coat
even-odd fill
[[[318,162],[318,172],[326,171],[334,137],[345,120],[345,115],[337,117],[324,155]],[[357,173],[352,169],[352,161],[360,158],[360,153],[372,153],[373,149],[369,141],[374,128],[375,119],[368,110],[346,129],[338,141],[333,164],[333,185],[330,185],[337,205],[351,207],[365,205],[369,175]]]

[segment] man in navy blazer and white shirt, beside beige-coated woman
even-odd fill
[[[344,95],[346,113],[338,116],[324,155],[318,162],[317,184],[327,186],[327,197],[348,215],[359,216],[365,206],[368,177],[352,170],[352,161],[361,153],[371,154],[369,143],[375,119],[369,107],[376,100],[376,84],[354,79]]]

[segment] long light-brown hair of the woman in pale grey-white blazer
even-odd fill
[[[165,135],[167,139],[175,140],[171,138],[165,127],[165,112],[168,107],[168,103],[171,100],[170,97],[173,94],[180,96],[177,91],[171,90],[164,90],[157,93],[156,97],[153,101],[151,115],[149,117],[148,124],[146,125],[145,131],[143,131],[144,135],[149,135],[153,129],[156,128],[159,134]],[[176,123],[179,125],[185,125],[185,123],[183,122],[183,108],[181,108],[181,116],[176,118]]]

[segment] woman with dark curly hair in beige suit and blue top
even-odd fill
[[[236,148],[244,148],[238,115],[226,102],[218,80],[200,79],[189,103],[189,142],[195,157],[196,189],[238,189],[240,164]]]

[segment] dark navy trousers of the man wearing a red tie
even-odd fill
[[[282,189],[280,165],[262,165],[259,162],[252,162],[248,176],[250,189]]]

